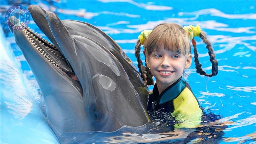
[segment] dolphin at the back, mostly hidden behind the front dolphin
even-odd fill
[[[56,47],[59,47],[51,33],[49,25],[47,24],[46,11],[37,5],[29,5],[28,10],[31,13],[36,25],[44,32],[44,34]],[[62,20],[62,23],[67,28],[71,36],[78,35],[91,38],[108,49],[108,51],[111,52],[121,63],[135,90],[139,93],[143,106],[147,107],[149,94],[148,88],[145,87],[145,84],[133,62],[110,36],[105,34],[99,28],[96,28],[95,26],[83,21]]]

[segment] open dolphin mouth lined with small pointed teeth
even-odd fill
[[[28,42],[43,56],[44,59],[66,73],[70,78],[79,81],[65,56],[61,54],[60,50],[58,50],[55,45],[44,39],[43,36],[40,36],[29,27],[24,27],[23,32]]]

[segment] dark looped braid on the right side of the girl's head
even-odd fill
[[[199,37],[203,40],[203,43],[206,44],[206,48],[208,49],[208,54],[210,56],[210,61],[212,63],[212,74],[206,74],[204,70],[201,68],[202,64],[199,63],[198,60],[198,53],[197,53],[197,48],[196,48],[196,41],[193,38],[192,39],[192,45],[194,47],[194,58],[195,58],[195,63],[196,63],[196,72],[199,73],[200,75],[204,76],[216,76],[218,74],[218,61],[215,59],[215,54],[212,49],[212,45],[210,41],[206,38],[204,32],[200,32]]]

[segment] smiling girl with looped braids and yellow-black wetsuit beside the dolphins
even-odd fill
[[[212,74],[206,74],[201,68],[194,36],[199,36],[206,44],[212,62]],[[196,72],[204,76],[217,75],[218,61],[210,42],[199,26],[182,28],[178,24],[163,23],[153,30],[142,31],[135,46],[135,56],[143,80],[146,84],[153,85],[152,75],[156,78],[153,91],[149,94],[147,109],[171,112],[180,122],[174,125],[175,128],[195,127],[200,124],[203,113],[190,86],[181,79],[182,74],[185,74],[184,69],[189,68],[192,61],[190,40],[194,47]],[[142,44],[146,68],[140,60]]]

